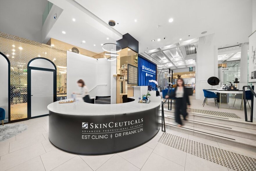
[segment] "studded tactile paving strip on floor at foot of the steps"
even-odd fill
[[[255,171],[256,159],[163,132],[158,142],[235,171]]]

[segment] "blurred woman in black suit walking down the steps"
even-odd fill
[[[184,81],[182,78],[177,79],[177,86],[172,93],[165,96],[166,99],[174,98],[176,100],[176,110],[175,110],[175,121],[178,123],[178,127],[182,126],[182,121],[180,119],[180,114],[182,114],[184,120],[186,121],[187,105],[190,108],[188,89],[184,86]]]

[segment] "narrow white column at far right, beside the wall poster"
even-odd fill
[[[244,85],[247,85],[247,72],[248,72],[248,45],[247,43],[241,44],[241,58],[240,58],[240,83],[239,90],[242,90]]]

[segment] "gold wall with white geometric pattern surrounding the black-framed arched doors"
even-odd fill
[[[10,60],[11,121],[27,117],[27,64],[36,57],[44,57],[57,67],[57,100],[66,96],[67,49],[0,32],[0,52]]]

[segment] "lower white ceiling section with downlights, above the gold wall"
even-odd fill
[[[103,52],[101,44],[115,43],[121,39],[122,34],[116,32],[108,24],[90,14],[85,8],[79,6],[73,0],[49,0],[51,3],[63,9],[56,23],[49,31],[47,37],[51,37],[86,50],[96,53]],[[75,19],[73,21],[72,19]],[[53,17],[52,17],[53,19]],[[113,33],[113,31],[115,33]],[[66,34],[63,34],[65,31]],[[109,38],[109,40],[107,40]],[[82,41],[86,41],[83,43]],[[95,45],[95,46],[94,46]]]

